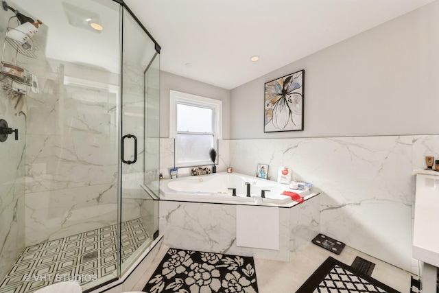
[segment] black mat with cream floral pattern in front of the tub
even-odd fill
[[[257,293],[252,257],[170,248],[143,291]]]

